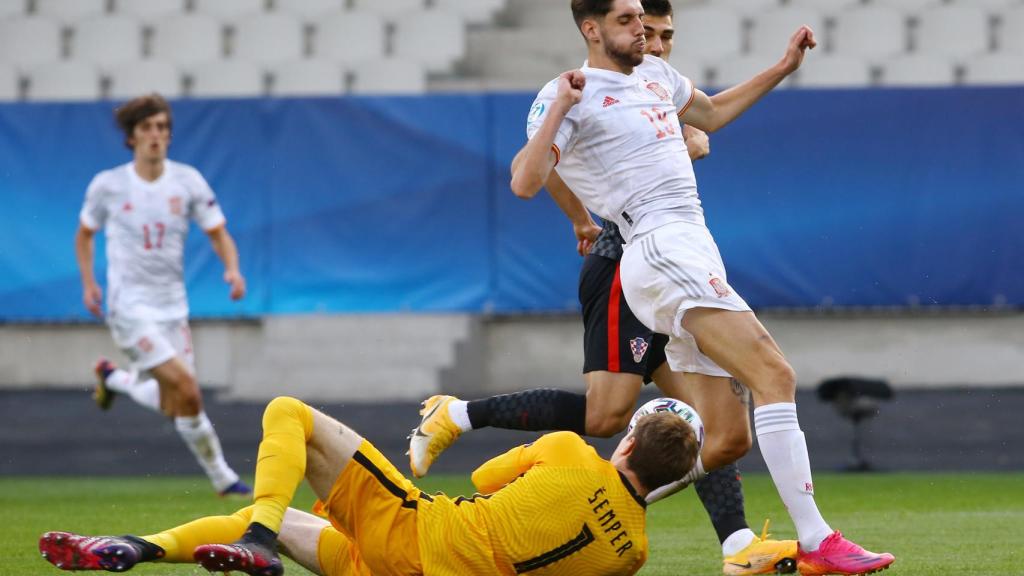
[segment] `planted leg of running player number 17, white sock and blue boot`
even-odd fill
[[[191,369],[172,358],[150,369],[160,384],[161,410],[174,418],[174,427],[221,495],[248,497],[251,490],[227,465],[217,431],[203,411],[203,396]]]

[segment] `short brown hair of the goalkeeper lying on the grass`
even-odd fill
[[[633,437],[636,444],[626,463],[647,490],[682,479],[693,468],[700,450],[693,427],[672,412],[640,418]]]

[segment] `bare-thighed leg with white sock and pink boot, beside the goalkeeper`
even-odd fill
[[[807,442],[797,419],[796,373],[754,314],[696,307],[687,311],[682,324],[706,356],[751,388],[761,454],[797,527],[801,554],[827,557],[809,564],[808,571],[827,565],[839,574],[862,574],[892,564],[891,554],[868,552],[842,538],[818,511]],[[824,546],[821,552],[819,546]]]

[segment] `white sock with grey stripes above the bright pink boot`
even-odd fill
[[[775,489],[797,527],[801,548],[808,552],[818,549],[833,530],[814,502],[811,461],[797,420],[797,405],[780,402],[755,408],[754,429]]]

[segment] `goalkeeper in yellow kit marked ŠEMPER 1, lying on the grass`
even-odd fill
[[[647,559],[644,496],[696,453],[685,421],[651,414],[610,460],[572,433],[550,434],[477,468],[479,494],[450,498],[421,492],[348,426],[278,398],[263,414],[252,506],[141,538],[50,532],[40,550],[66,570],[194,558],[211,571],[275,576],[280,539],[330,576],[633,574]],[[288,508],[303,478],[331,526]]]

